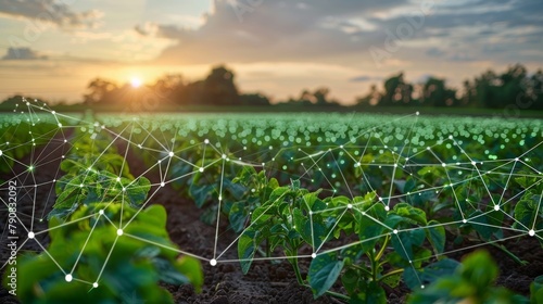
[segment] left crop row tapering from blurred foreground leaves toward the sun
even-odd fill
[[[97,127],[89,136],[94,127],[79,126],[70,138],[49,229],[29,237],[48,232],[50,243],[18,257],[20,300],[73,303],[85,294],[89,303],[173,303],[159,281],[200,289],[200,262],[178,258],[164,207],[147,206],[149,180],[130,174],[106,132]]]

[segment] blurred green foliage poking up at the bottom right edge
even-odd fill
[[[416,290],[408,303],[528,303],[510,291],[495,287],[497,266],[484,251],[468,255],[453,275],[443,276]],[[536,289],[535,283],[532,284]]]

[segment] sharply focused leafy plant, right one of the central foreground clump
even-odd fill
[[[387,211],[375,201],[375,193],[363,200],[355,198],[350,204],[355,210],[353,225],[359,241],[312,261],[308,283],[315,296],[328,292],[339,277],[352,303],[386,303],[383,287],[395,288],[402,279],[412,288],[424,283],[420,274],[432,255],[425,241],[435,254],[441,254],[444,228],[437,221],[427,221],[421,210],[406,203]],[[327,279],[323,280],[324,277]]]

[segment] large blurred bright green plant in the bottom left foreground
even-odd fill
[[[119,235],[116,224],[128,220]],[[85,294],[86,303],[131,303],[135,299],[173,303],[159,281],[192,283],[199,290],[203,282],[200,262],[178,258],[165,227],[166,212],[161,205],[138,212],[127,204],[92,203],[81,205],[67,225],[53,217],[47,252],[18,258],[20,300],[75,303]]]

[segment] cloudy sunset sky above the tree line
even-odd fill
[[[462,88],[543,67],[541,0],[0,0],[0,100],[80,101],[91,79],[187,80],[225,64],[278,101],[330,88],[344,103],[404,72]]]

